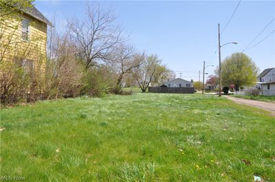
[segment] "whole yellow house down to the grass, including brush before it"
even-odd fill
[[[0,3],[1,101],[36,100],[45,90],[47,25],[52,24],[34,5],[22,10],[5,2]]]

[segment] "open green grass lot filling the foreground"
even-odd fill
[[[25,181],[275,181],[274,117],[212,95],[43,101],[1,128],[1,176]]]

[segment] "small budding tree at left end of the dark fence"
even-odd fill
[[[159,78],[166,70],[166,67],[161,65],[161,60],[156,55],[146,56],[142,65],[133,71],[133,76],[137,80],[137,84],[145,92],[154,78]]]

